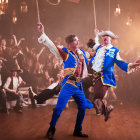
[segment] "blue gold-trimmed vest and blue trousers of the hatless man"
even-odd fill
[[[55,127],[56,122],[59,116],[61,115],[61,112],[64,110],[66,103],[68,102],[69,98],[73,96],[78,106],[78,114],[77,114],[75,130],[81,131],[82,122],[85,116],[86,108],[89,108],[89,109],[92,108],[93,104],[88,99],[85,98],[85,95],[82,89],[82,81],[78,83],[76,82],[75,85],[67,82],[67,78],[71,76],[72,73],[74,74],[76,65],[79,59],[72,51],[68,51],[66,48],[63,48],[63,50],[66,53],[68,53],[68,57],[64,61],[64,72],[66,70],[66,75],[62,81],[61,91],[58,97],[57,105],[53,111],[53,116],[52,116],[52,120],[50,124],[51,126]],[[85,53],[83,54],[83,57],[87,65],[88,60],[85,56]]]

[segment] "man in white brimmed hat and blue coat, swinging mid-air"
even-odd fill
[[[103,45],[98,42],[98,36],[102,37]],[[93,45],[95,51],[94,56],[89,61],[88,71],[91,77],[95,78],[94,83],[94,100],[93,104],[96,109],[97,115],[104,114],[105,121],[108,120],[110,112],[113,110],[113,106],[107,106],[104,96],[107,89],[110,86],[116,86],[116,80],[113,73],[114,64],[126,72],[131,72],[138,67],[140,63],[127,63],[120,57],[120,50],[113,46],[112,40],[118,37],[111,31],[99,32],[96,30],[95,41],[89,40],[88,45]]]

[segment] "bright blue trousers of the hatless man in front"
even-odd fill
[[[68,83],[66,83],[60,91],[57,105],[53,111],[52,120],[50,122],[50,125],[52,127],[55,127],[56,122],[61,115],[61,112],[65,109],[65,106],[71,96],[73,96],[73,98],[75,99],[77,107],[78,107],[78,114],[77,114],[75,129],[78,131],[81,131],[82,122],[83,122],[86,107],[87,107],[87,104],[86,104],[87,99],[85,98],[85,95],[84,95],[84,92],[83,92],[81,86],[75,87]],[[90,104],[89,101],[88,101],[88,106],[89,106],[88,108],[93,107],[92,103]]]

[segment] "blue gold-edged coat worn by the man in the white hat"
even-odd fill
[[[100,49],[100,47],[101,45],[96,49],[96,53]],[[94,60],[96,53],[91,58],[89,62],[90,64]],[[116,80],[113,73],[114,63],[116,63],[120,69],[127,72],[129,63],[126,63],[122,59],[117,58],[117,53],[119,53],[119,49],[114,46],[112,46],[110,49],[107,49],[104,53],[104,60],[101,69],[101,80],[104,85],[116,86]]]

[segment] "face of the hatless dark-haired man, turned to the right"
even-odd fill
[[[69,48],[70,48],[71,50],[77,50],[78,47],[79,47],[79,39],[78,39],[78,37],[75,36],[75,37],[73,38],[73,41],[72,41],[71,43],[69,43],[68,46],[69,46]]]

